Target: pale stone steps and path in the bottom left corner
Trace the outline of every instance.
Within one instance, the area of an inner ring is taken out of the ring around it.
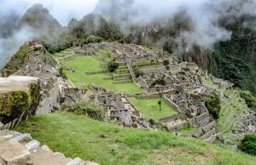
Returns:
[[[0,122],[1,123],[1,122]],[[76,157],[67,158],[53,152],[47,145],[32,139],[30,134],[20,134],[0,129],[0,165],[98,165]]]

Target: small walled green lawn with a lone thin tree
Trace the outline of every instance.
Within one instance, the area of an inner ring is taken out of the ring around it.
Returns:
[[[167,105],[164,100],[162,100],[161,110],[158,105],[160,99],[136,99],[131,97],[130,100],[147,120],[159,121],[160,118],[177,115],[177,111]]]

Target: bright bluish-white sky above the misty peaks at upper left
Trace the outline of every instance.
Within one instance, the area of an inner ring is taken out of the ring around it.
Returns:
[[[34,3],[41,3],[61,25],[67,26],[70,19],[81,19],[92,12],[97,2],[98,0],[0,0],[0,18],[11,12],[24,14]]]

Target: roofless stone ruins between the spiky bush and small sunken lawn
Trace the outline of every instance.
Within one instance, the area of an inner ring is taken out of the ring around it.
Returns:
[[[97,88],[92,84],[90,88],[94,94],[94,102],[105,108],[108,122],[115,122],[124,127],[148,129],[148,123],[127,96]]]

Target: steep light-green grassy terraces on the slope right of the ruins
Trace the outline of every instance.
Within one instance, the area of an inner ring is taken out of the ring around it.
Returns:
[[[243,110],[247,109],[247,105],[241,99],[240,94],[234,90],[225,90],[218,88],[218,85],[212,81],[202,78],[204,85],[208,88],[216,89],[222,92],[225,96],[221,97],[221,110],[217,121],[218,128],[222,133],[227,133],[232,128],[236,117],[240,117]]]

